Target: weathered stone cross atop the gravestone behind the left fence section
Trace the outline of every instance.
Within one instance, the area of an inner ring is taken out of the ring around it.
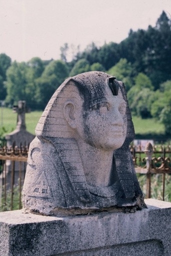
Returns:
[[[18,100],[18,105],[13,106],[13,112],[17,113],[16,129],[26,129],[25,126],[25,113],[29,113],[30,109],[26,107],[25,100]]]

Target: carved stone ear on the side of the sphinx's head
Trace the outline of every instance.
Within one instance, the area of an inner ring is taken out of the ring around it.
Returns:
[[[76,107],[73,101],[69,100],[65,102],[63,106],[63,114],[65,117],[65,120],[67,121],[68,125],[71,128],[76,128],[75,110],[76,110]]]

